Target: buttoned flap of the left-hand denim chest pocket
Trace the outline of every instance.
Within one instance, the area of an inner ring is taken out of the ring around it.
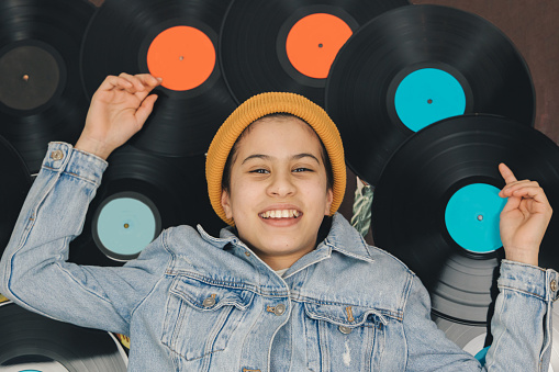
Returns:
[[[183,275],[175,279],[170,292],[200,311],[214,311],[223,306],[235,306],[244,311],[255,295],[250,291],[208,284]]]

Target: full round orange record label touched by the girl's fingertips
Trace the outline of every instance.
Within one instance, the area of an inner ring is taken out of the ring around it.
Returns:
[[[208,35],[191,26],[175,26],[158,34],[147,50],[149,74],[171,90],[201,86],[215,67],[215,48]]]

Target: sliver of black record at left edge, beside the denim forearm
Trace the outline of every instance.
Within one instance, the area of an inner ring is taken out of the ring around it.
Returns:
[[[0,182],[0,257],[12,235],[25,196],[31,188],[31,176],[23,158],[8,140],[0,136],[0,158],[3,162]]]

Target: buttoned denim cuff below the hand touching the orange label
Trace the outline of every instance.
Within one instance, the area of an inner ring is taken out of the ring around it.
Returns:
[[[97,185],[109,164],[98,156],[75,149],[70,144],[52,142],[43,160],[43,168],[65,172]]]

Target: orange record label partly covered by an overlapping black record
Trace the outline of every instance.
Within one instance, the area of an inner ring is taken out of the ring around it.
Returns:
[[[335,15],[306,15],[288,34],[286,50],[289,61],[305,76],[326,79],[337,53],[351,34],[347,23]]]

